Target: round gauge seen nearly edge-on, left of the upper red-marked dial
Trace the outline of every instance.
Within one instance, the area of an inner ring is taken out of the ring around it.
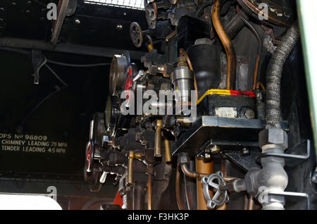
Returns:
[[[111,95],[120,93],[124,88],[125,74],[130,64],[130,56],[128,54],[116,55],[113,57],[109,76],[109,89]]]

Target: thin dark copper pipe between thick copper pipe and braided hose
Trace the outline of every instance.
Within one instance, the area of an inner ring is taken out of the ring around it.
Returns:
[[[247,25],[247,27],[249,27],[251,32],[254,33],[257,41],[259,42],[259,50],[258,50],[258,54],[256,56],[256,64],[254,67],[253,85],[252,85],[252,89],[255,90],[256,89],[256,82],[258,81],[258,76],[259,76],[259,66],[260,66],[261,51],[262,51],[262,41],[261,41],[261,37],[259,35],[259,32],[257,32],[256,29],[251,25],[251,23],[249,23],[247,21],[247,19],[244,18],[242,12],[240,11],[239,6],[237,6],[237,14],[240,16],[241,20],[245,23],[245,25]]]

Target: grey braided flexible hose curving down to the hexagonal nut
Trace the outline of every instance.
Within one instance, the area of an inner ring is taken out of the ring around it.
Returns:
[[[268,64],[266,75],[266,128],[280,128],[280,82],[287,57],[299,39],[298,23],[294,23],[283,37],[281,44]]]

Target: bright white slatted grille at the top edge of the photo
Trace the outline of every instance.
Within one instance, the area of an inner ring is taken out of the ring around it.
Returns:
[[[143,0],[85,0],[85,3],[144,10]]]

